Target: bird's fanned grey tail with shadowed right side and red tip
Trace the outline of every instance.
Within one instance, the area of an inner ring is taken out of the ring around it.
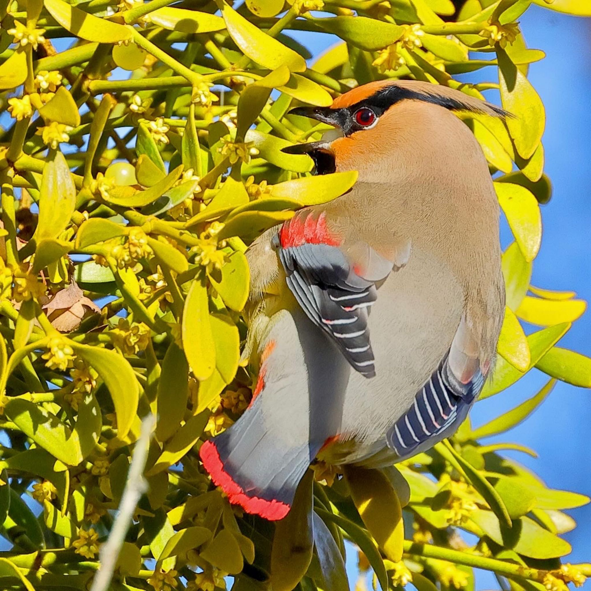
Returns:
[[[251,405],[232,427],[206,441],[200,456],[230,502],[276,520],[287,515],[324,442],[338,433],[346,381],[336,370],[346,374],[348,366],[299,311],[275,314],[258,342]]]

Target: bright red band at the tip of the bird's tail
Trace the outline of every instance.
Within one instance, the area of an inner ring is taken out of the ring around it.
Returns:
[[[247,513],[259,515],[269,521],[283,519],[290,511],[290,505],[282,501],[276,499],[267,501],[267,499],[261,499],[258,496],[248,496],[224,469],[222,459],[213,441],[206,441],[201,446],[199,456],[203,466],[212,477],[213,483],[222,487],[223,492],[228,495],[230,503],[240,505]]]

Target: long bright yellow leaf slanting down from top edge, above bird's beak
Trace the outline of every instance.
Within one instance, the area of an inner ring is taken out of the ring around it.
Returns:
[[[306,60],[276,39],[263,33],[228,4],[222,5],[222,17],[232,40],[245,56],[269,70],[287,66],[291,72],[304,72]]]

